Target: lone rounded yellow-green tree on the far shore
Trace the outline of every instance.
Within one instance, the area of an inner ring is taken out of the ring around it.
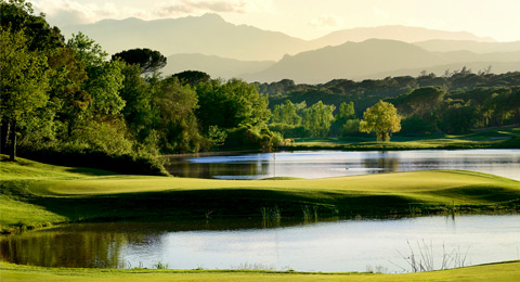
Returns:
[[[367,108],[360,123],[361,132],[376,132],[378,141],[390,141],[392,132],[401,130],[401,116],[390,103],[379,101]]]

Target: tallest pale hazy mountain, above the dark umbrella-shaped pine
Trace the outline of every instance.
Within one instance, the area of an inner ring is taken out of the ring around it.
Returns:
[[[66,36],[82,31],[108,53],[150,48],[164,55],[200,53],[244,61],[277,61],[316,48],[314,43],[277,31],[234,25],[217,14],[142,21],[104,20],[62,28]]]

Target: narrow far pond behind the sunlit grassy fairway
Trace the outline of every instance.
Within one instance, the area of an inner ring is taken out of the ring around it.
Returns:
[[[173,176],[217,179],[325,178],[422,169],[466,169],[520,180],[520,150],[304,151],[170,157]]]

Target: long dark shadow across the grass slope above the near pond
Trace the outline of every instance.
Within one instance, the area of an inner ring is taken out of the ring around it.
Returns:
[[[35,197],[31,204],[72,221],[179,220],[252,218],[262,208],[278,207],[282,218],[301,218],[302,208],[316,208],[320,217],[388,217],[406,214],[410,198],[396,195],[308,195],[271,190],[221,189],[110,194],[81,197]]]

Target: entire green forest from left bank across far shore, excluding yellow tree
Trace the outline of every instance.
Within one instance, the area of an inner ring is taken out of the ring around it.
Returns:
[[[520,123],[520,73],[473,73],[296,85],[248,84],[198,70],[162,76],[150,49],[112,56],[68,40],[23,0],[1,0],[1,151],[55,164],[165,174],[158,156],[262,149],[296,137],[367,136],[363,113],[398,110],[398,134],[466,133]]]

